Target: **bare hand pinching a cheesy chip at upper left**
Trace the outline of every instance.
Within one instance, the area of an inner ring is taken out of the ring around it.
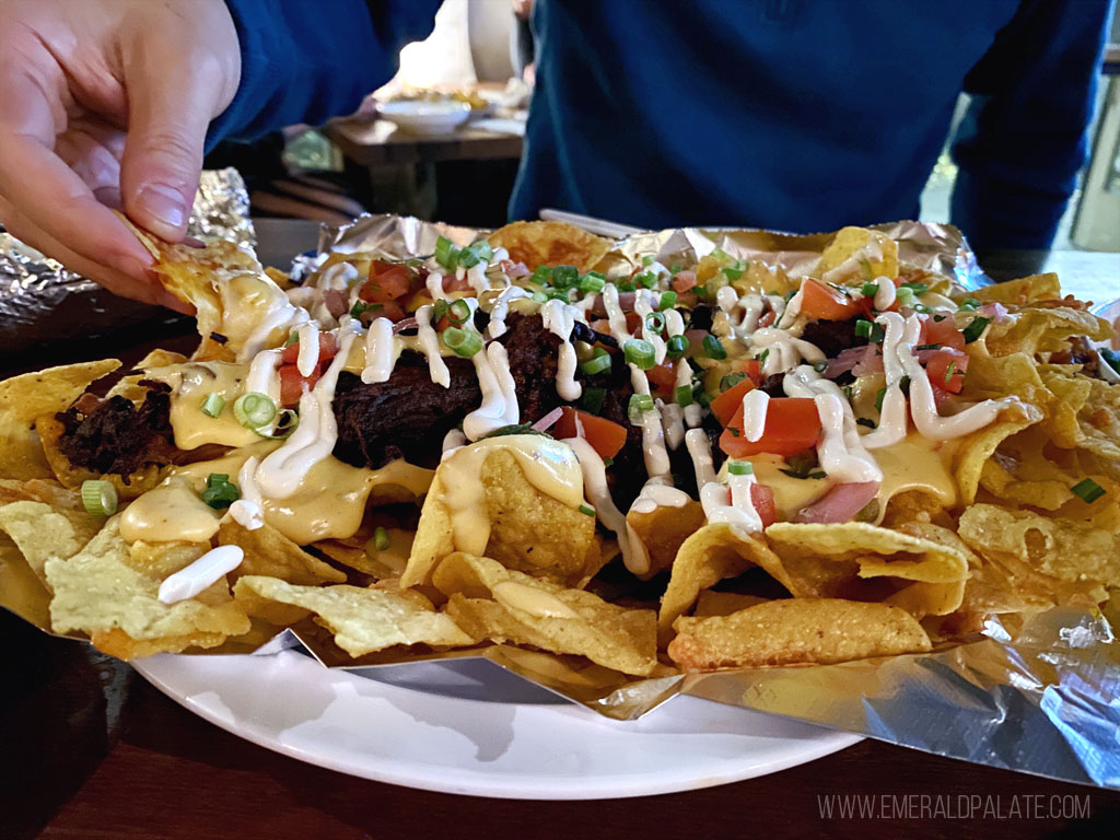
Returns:
[[[178,242],[241,49],[223,0],[0,0],[0,222],[118,295],[185,310],[118,218]]]

